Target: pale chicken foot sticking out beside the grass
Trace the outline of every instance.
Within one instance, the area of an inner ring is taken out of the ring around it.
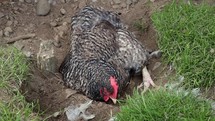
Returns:
[[[152,85],[153,87],[157,87],[157,85],[152,80],[146,66],[142,70],[142,76],[143,82],[139,86],[137,86],[137,89],[140,89],[144,86],[143,93],[145,93],[149,89],[150,85]]]

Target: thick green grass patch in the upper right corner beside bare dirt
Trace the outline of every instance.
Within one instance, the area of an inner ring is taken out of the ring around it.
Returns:
[[[175,2],[152,15],[167,63],[190,87],[215,84],[215,6]]]

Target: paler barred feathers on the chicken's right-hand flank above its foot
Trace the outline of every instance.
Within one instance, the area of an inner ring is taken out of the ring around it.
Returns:
[[[150,59],[149,51],[127,30],[118,29],[116,41],[119,45],[117,55],[113,58],[132,69],[135,74],[140,74],[142,68]]]

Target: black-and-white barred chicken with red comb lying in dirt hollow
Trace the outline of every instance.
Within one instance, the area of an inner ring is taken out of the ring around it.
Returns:
[[[145,65],[150,53],[126,30],[118,14],[91,6],[72,17],[71,49],[60,66],[65,84],[93,100],[116,101],[133,73],[146,90],[155,86]]]

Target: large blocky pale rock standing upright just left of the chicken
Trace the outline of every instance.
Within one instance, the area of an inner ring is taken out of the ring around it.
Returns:
[[[37,66],[46,74],[57,72],[57,59],[54,56],[52,40],[42,40],[40,43],[39,52],[37,53]]]

